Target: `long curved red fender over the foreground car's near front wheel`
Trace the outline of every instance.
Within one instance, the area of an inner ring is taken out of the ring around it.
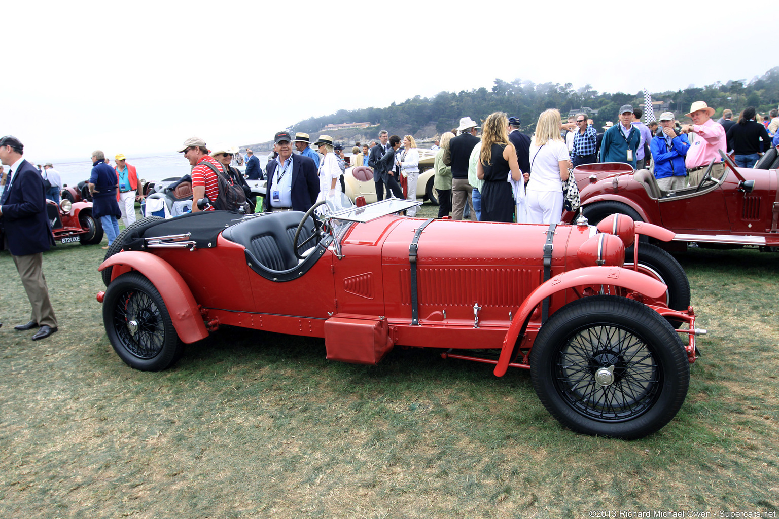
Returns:
[[[527,317],[530,316],[535,307],[538,307],[541,301],[548,296],[552,296],[553,293],[573,286],[583,285],[621,286],[654,298],[662,296],[668,289],[663,283],[650,278],[648,275],[622,267],[584,267],[555,275],[555,277],[538,286],[537,289],[530,293],[530,296],[527,296],[520,309],[516,311],[516,315],[509,326],[509,331],[506,332],[506,338],[503,339],[500,358],[493,372],[495,376],[502,377],[506,374],[516,339],[520,336],[520,331],[525,321],[527,321]]]

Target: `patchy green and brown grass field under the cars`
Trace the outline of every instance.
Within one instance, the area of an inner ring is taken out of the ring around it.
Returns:
[[[777,254],[677,255],[703,357],[675,419],[622,441],[563,429],[526,371],[427,350],[357,366],[222,328],[170,370],[132,370],[95,300],[104,252],[44,255],[60,331],[40,342],[12,329],[30,309],[0,253],[0,518],[776,517]]]

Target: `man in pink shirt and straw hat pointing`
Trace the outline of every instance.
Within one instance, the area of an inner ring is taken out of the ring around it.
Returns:
[[[700,184],[707,167],[714,160],[711,168],[711,176],[721,178],[724,174],[724,164],[719,150],[728,152],[728,143],[725,139],[725,129],[721,124],[711,120],[714,108],[710,108],[703,101],[696,101],[689,109],[687,117],[693,119],[693,124],[682,124],[682,133],[686,133],[690,141],[689,150],[685,158],[689,185]]]

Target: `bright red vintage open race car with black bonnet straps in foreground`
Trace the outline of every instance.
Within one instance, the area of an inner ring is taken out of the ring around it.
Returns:
[[[347,363],[439,349],[499,377],[530,370],[546,409],[581,433],[643,437],[675,416],[704,331],[692,307],[668,307],[633,247],[673,233],[621,215],[598,228],[398,216],[414,204],[337,194],[305,214],[139,220],[100,265],[111,345],[139,370],[225,324],[321,337]]]

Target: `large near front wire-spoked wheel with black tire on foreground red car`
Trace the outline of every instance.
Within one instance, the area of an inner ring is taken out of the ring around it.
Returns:
[[[563,426],[633,440],[660,430],[679,411],[689,363],[676,331],[649,307],[591,296],[544,324],[530,350],[530,377]]]

